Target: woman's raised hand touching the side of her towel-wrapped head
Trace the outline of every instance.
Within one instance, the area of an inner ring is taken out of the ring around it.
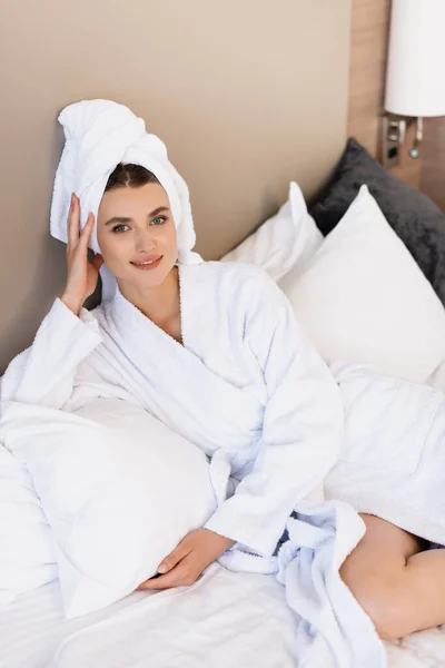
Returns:
[[[93,214],[89,214],[83,229],[80,232],[80,203],[77,195],[71,195],[71,206],[68,214],[67,245],[67,285],[60,297],[71,311],[79,314],[83,302],[92,295],[103,264],[101,255],[97,254],[92,262],[88,259],[88,242],[95,225]]]

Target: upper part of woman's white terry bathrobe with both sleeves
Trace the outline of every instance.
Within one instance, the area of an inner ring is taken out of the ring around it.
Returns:
[[[263,272],[179,272],[184,346],[120,292],[80,320],[56,299],[9,366],[1,400],[66,411],[98,396],[140,404],[214,458],[219,499],[229,474],[241,481],[208,528],[271,556],[296,502],[338,458],[340,393]]]

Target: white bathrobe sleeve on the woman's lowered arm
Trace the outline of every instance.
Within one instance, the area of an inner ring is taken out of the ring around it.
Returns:
[[[266,277],[248,293],[245,343],[268,394],[261,446],[251,471],[206,528],[270,557],[296,503],[320,488],[336,462],[344,411],[334,376],[284,293]]]

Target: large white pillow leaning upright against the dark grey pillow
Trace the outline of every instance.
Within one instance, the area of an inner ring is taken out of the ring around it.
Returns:
[[[424,382],[445,357],[445,310],[366,186],[280,287],[328,361]]]

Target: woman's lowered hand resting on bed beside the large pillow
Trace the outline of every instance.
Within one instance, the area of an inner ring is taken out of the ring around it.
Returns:
[[[169,589],[194,584],[202,571],[235,544],[234,540],[208,529],[190,531],[158,567],[160,577],[150,578],[138,589]]]

